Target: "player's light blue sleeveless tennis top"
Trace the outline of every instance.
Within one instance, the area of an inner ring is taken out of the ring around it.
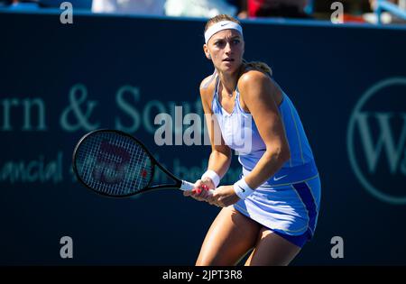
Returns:
[[[258,132],[251,114],[246,113],[240,105],[240,93],[235,89],[235,104],[231,114],[220,105],[218,100],[217,76],[216,87],[211,103],[226,145],[238,153],[238,160],[243,166],[243,176],[254,169],[258,160],[266,151],[265,143]],[[286,161],[278,172],[265,184],[283,185],[311,179],[318,175],[308,138],[300,121],[300,116],[289,96],[282,91],[283,99],[278,106],[285,133],[291,150],[291,159]]]

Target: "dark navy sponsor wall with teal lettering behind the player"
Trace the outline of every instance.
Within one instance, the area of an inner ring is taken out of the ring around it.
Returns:
[[[213,71],[204,24],[86,13],[62,24],[59,12],[0,12],[0,264],[194,264],[217,207],[177,190],[99,197],[78,184],[71,157],[83,134],[115,128],[176,176],[198,179],[210,147],[201,133],[187,138],[204,124],[198,86]],[[244,27],[245,59],[272,67],[321,177],[315,237],[292,264],[405,264],[406,29]],[[172,118],[171,145],[156,142],[159,114]],[[224,185],[241,172],[236,158]]]

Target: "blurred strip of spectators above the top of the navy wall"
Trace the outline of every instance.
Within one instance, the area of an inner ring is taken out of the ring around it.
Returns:
[[[0,0],[10,10],[59,8],[63,0]],[[212,17],[269,17],[329,20],[332,5],[344,8],[345,23],[405,23],[405,0],[72,0],[76,9],[93,13]],[[381,15],[381,17],[379,17]]]

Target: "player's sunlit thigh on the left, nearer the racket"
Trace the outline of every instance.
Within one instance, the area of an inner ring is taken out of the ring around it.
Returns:
[[[233,206],[223,208],[208,230],[196,265],[235,265],[254,247],[261,227]]]

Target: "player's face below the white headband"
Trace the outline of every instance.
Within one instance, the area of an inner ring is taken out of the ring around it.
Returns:
[[[243,61],[244,39],[240,32],[223,30],[210,38],[205,51],[217,69],[233,73]]]

